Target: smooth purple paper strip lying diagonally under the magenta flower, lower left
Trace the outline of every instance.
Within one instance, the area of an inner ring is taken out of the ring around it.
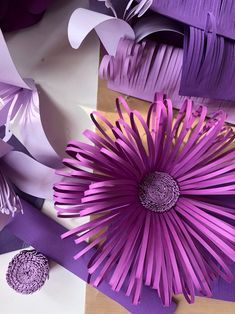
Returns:
[[[75,245],[73,242],[75,237],[61,241],[61,234],[67,231],[63,226],[45,216],[24,200],[21,200],[21,202],[24,215],[17,215],[12,219],[7,229],[23,241],[31,244],[37,251],[42,252],[87,282],[89,280],[87,264],[95,249],[79,261],[75,261],[73,256],[77,249],[84,249],[87,243],[82,242]],[[98,290],[120,303],[133,314],[171,314],[175,310],[174,303],[169,308],[163,307],[156,293],[147,287],[144,287],[142,302],[138,305],[133,305],[131,300],[125,296],[124,291],[121,290],[119,293],[112,291],[106,280],[100,284]]]

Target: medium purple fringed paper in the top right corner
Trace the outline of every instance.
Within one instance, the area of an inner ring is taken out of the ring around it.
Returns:
[[[151,9],[202,30],[206,29],[210,13],[215,18],[217,34],[235,39],[233,0],[153,0]]]

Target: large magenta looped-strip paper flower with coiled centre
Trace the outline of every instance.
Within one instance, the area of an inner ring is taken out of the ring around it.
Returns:
[[[62,238],[90,239],[75,259],[99,244],[88,265],[92,283],[109,275],[112,289],[126,289],[134,303],[144,284],[167,306],[173,294],[188,302],[211,296],[213,279],[233,279],[235,261],[235,211],[226,202],[235,194],[235,134],[226,114],[207,121],[205,106],[193,111],[185,100],[174,119],[166,99],[145,119],[121,97],[117,112],[115,124],[91,115],[99,134],[84,134],[92,145],[67,146],[71,171],[62,175],[73,180],[55,185],[58,215],[98,216]]]

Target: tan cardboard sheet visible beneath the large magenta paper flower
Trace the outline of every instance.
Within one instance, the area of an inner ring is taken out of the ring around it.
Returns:
[[[99,80],[97,110],[102,112],[110,121],[117,117],[115,99],[120,93],[113,92],[106,87],[106,82]],[[128,105],[146,116],[149,103],[133,97],[126,97]],[[184,297],[174,298],[177,303],[175,314],[234,314],[235,303],[197,297],[195,304],[188,304]],[[121,305],[111,300],[95,288],[87,285],[85,314],[127,314]],[[147,313],[143,313],[147,314]],[[161,314],[161,313],[156,313]]]

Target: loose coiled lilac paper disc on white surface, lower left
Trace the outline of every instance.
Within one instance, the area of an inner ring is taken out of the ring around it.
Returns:
[[[48,279],[47,258],[36,250],[21,251],[9,263],[6,280],[8,285],[22,294],[39,290]]]

